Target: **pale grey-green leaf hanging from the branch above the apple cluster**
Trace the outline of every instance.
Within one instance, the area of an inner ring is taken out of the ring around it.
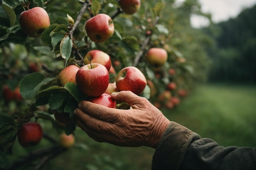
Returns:
[[[66,63],[67,63],[67,60],[70,58],[72,46],[73,46],[73,42],[69,36],[65,36],[61,40],[61,44],[60,44],[61,57],[66,60]]]

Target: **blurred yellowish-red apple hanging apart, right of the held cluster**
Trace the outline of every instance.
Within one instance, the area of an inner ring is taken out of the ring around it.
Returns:
[[[146,53],[145,59],[150,66],[160,67],[167,61],[168,54],[165,49],[151,48]]]

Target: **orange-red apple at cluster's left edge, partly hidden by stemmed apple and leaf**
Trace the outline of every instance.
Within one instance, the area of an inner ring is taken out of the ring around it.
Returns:
[[[76,73],[79,70],[79,66],[69,65],[58,74],[58,81],[62,86],[65,86],[67,82],[76,84]]]

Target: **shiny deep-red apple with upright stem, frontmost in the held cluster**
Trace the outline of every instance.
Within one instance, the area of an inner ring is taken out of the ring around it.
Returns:
[[[76,73],[79,90],[88,97],[98,97],[108,88],[109,74],[105,66],[92,63],[82,66]]]

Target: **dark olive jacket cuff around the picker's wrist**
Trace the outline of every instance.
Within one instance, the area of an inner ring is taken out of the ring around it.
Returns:
[[[178,170],[194,136],[188,128],[171,121],[155,150],[152,170]]]

